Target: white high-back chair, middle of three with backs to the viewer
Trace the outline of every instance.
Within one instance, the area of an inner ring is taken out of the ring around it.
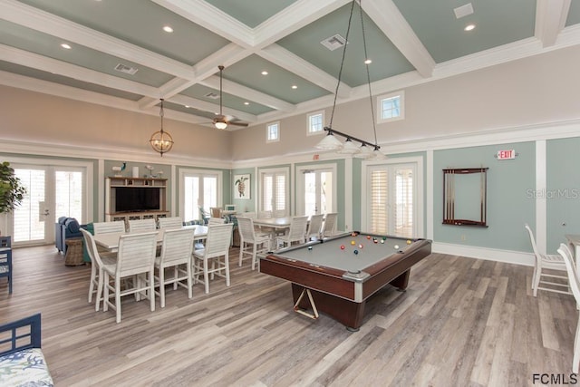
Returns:
[[[193,276],[191,275],[191,255],[193,253],[193,228],[173,228],[165,230],[161,254],[155,258],[157,275],[155,287],[159,287],[156,295],[160,297],[160,305],[165,307],[165,285],[173,284],[173,290],[178,285],[188,289],[188,297],[193,296]],[[173,272],[166,276],[166,269]],[[171,270],[172,269],[172,270]]]

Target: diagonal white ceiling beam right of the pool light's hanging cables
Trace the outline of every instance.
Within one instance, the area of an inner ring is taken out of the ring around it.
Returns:
[[[435,61],[392,0],[366,0],[362,3],[362,9],[413,67],[422,76],[429,78],[435,68]]]

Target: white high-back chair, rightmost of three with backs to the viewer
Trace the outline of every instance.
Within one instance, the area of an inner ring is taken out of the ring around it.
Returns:
[[[214,276],[226,278],[229,286],[229,245],[233,227],[233,223],[208,226],[205,246],[193,252],[193,276],[196,282],[204,285],[206,294],[209,293],[209,275],[211,279]]]

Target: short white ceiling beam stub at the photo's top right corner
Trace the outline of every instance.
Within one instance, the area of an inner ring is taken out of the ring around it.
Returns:
[[[571,0],[537,0],[534,35],[543,47],[556,44],[558,35],[565,27],[570,4]]]

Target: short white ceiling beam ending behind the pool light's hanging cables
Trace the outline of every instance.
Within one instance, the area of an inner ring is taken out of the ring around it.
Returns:
[[[322,87],[324,90],[333,93],[336,92],[336,83],[338,82],[336,78],[320,70],[314,64],[304,61],[298,55],[289,52],[278,44],[270,44],[257,54],[266,59],[266,61],[275,63],[277,66],[291,73],[295,73],[306,81]],[[341,82],[341,87],[338,89],[339,97],[347,98],[351,92],[352,88],[344,82]]]

